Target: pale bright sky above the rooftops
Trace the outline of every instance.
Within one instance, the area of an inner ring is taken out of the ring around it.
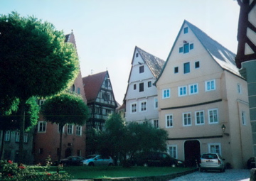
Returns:
[[[82,77],[108,70],[122,104],[135,46],[166,61],[183,21],[237,53],[235,0],[0,0],[0,14],[17,11],[73,31]]]

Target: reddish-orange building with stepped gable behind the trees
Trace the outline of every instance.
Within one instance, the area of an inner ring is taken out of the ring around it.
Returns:
[[[65,36],[66,43],[75,45],[75,35],[73,32]],[[75,45],[76,47],[76,45]],[[80,94],[85,104],[85,91],[82,84],[82,75],[79,72],[73,85],[70,87],[70,92]],[[44,100],[38,100],[38,104],[43,104]],[[62,158],[67,158],[71,155],[85,156],[85,129],[86,126],[78,126],[67,124],[63,128],[63,148]],[[58,124],[51,124],[43,119],[41,115],[34,133],[34,163],[46,163],[46,158],[50,155],[52,161],[58,160],[58,152],[60,145],[60,129]]]

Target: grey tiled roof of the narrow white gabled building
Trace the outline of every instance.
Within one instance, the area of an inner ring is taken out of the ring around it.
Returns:
[[[159,57],[147,53],[146,51],[138,48],[137,46],[135,47],[134,53],[136,52],[136,50],[139,52],[139,55],[141,55],[142,60],[149,67],[154,77],[157,78],[160,75],[161,69],[164,67],[164,60],[161,60]]]

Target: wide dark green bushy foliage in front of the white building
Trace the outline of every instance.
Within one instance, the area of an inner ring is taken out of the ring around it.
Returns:
[[[110,115],[105,123],[104,131],[95,131],[92,134],[92,143],[97,152],[111,155],[117,160],[122,156],[124,165],[126,158],[132,157],[140,151],[166,151],[168,133],[161,128],[154,128],[151,124],[129,123],[125,125],[119,114]]]

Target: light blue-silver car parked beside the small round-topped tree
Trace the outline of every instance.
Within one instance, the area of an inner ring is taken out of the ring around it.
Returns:
[[[114,160],[110,156],[89,155],[81,163],[88,166],[113,166]]]

